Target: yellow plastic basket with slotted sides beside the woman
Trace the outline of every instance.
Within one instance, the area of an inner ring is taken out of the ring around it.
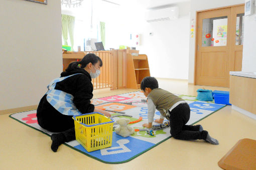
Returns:
[[[114,120],[99,112],[73,116],[76,140],[88,151],[112,145]]]

